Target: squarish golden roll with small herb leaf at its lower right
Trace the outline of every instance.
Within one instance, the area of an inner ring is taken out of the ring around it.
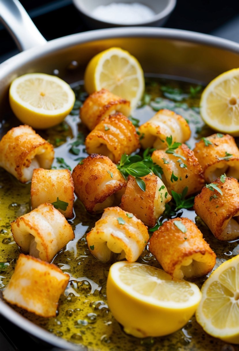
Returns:
[[[52,204],[57,200],[67,202],[66,211],[58,210],[66,217],[73,217],[74,184],[69,170],[44,170],[36,168],[33,171],[31,185],[32,209],[40,204]]]

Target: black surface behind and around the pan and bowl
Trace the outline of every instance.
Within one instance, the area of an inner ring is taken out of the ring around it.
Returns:
[[[20,2],[47,40],[91,29],[82,21],[71,0]],[[239,0],[178,0],[164,27],[209,33],[239,42]],[[0,62],[16,53],[18,49],[13,39],[0,24]],[[42,346],[27,333],[0,317],[0,351],[48,349],[53,350],[51,347]],[[235,346],[228,350],[238,349]]]

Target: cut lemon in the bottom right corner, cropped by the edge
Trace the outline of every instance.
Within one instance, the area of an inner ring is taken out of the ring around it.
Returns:
[[[202,286],[197,322],[210,335],[239,343],[239,255],[221,264]]]

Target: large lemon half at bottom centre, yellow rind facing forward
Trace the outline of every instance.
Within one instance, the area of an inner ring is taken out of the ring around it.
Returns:
[[[124,331],[136,337],[163,336],[183,327],[201,299],[196,284],[173,279],[140,263],[114,263],[107,279],[107,299]]]

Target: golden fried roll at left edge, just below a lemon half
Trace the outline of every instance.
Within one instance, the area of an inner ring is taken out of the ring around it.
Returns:
[[[53,159],[52,144],[28,125],[10,129],[0,141],[0,166],[22,183],[32,179],[34,168],[49,169]]]

